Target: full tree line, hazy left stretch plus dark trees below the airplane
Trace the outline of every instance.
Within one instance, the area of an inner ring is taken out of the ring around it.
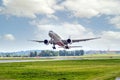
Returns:
[[[47,57],[47,56],[81,56],[84,55],[83,50],[74,51],[52,51],[52,50],[34,50],[34,51],[21,51],[11,53],[0,53],[0,57]]]

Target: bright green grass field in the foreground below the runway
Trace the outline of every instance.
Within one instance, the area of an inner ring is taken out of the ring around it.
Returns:
[[[115,80],[120,59],[0,63],[0,80]]]

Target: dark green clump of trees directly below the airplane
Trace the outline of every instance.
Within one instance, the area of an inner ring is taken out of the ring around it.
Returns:
[[[41,52],[30,52],[29,57],[46,57],[46,56],[82,56],[84,55],[84,50],[75,50],[75,51],[50,51],[50,50],[43,50]]]

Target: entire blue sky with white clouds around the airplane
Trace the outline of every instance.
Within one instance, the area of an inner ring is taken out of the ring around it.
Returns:
[[[119,50],[119,4],[119,0],[1,0],[0,52],[52,49],[28,41],[49,40],[49,30],[64,39],[102,37],[73,44],[85,50]]]

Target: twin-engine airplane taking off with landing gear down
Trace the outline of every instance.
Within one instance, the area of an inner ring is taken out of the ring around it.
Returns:
[[[88,38],[88,39],[67,39],[67,40],[63,40],[61,39],[61,37],[56,34],[53,31],[49,31],[48,33],[49,37],[51,38],[50,40],[30,40],[30,41],[34,41],[34,42],[38,42],[38,43],[44,43],[45,45],[48,44],[53,44],[53,49],[56,49],[55,45],[60,46],[60,48],[64,48],[64,49],[70,49],[70,48],[74,48],[74,47],[81,47],[81,46],[69,46],[69,44],[75,43],[75,42],[81,42],[81,41],[88,41],[88,40],[93,40],[93,39],[99,39],[100,37],[96,37],[96,38]]]

